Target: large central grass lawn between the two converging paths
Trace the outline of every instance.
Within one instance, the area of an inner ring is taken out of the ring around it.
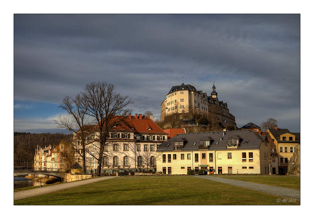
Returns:
[[[14,205],[300,205],[197,177],[119,177],[14,201]]]

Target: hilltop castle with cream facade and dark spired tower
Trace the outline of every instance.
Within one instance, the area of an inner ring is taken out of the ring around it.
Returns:
[[[225,127],[236,126],[236,119],[229,112],[227,103],[219,101],[215,85],[210,96],[189,84],[173,86],[160,106],[161,121],[174,112],[189,113],[192,110],[200,114],[213,113]]]

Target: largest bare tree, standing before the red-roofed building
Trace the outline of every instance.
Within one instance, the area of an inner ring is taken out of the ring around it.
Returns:
[[[115,88],[114,84],[106,81],[91,82],[80,93],[86,114],[92,117],[96,124],[95,135],[99,143],[95,144],[97,146],[95,152],[98,156],[95,156],[95,153],[93,156],[97,160],[97,175],[100,174],[105,146],[108,144],[107,139],[111,129],[122,124],[124,116],[132,112],[127,105],[134,103],[132,98],[114,92]]]

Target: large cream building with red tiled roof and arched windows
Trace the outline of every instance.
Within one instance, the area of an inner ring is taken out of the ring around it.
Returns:
[[[125,116],[123,122],[109,133],[101,173],[155,171],[156,149],[167,140],[167,133],[141,114]],[[94,131],[85,138],[86,173],[95,173],[97,169],[100,144],[97,136],[98,132]],[[73,138],[77,139],[75,134]],[[77,162],[82,166],[83,162],[79,159]]]

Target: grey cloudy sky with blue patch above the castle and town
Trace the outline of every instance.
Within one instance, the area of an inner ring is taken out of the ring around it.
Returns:
[[[237,126],[300,132],[300,14],[14,14],[14,132],[61,132],[65,95],[116,85],[135,113],[215,82]]]

